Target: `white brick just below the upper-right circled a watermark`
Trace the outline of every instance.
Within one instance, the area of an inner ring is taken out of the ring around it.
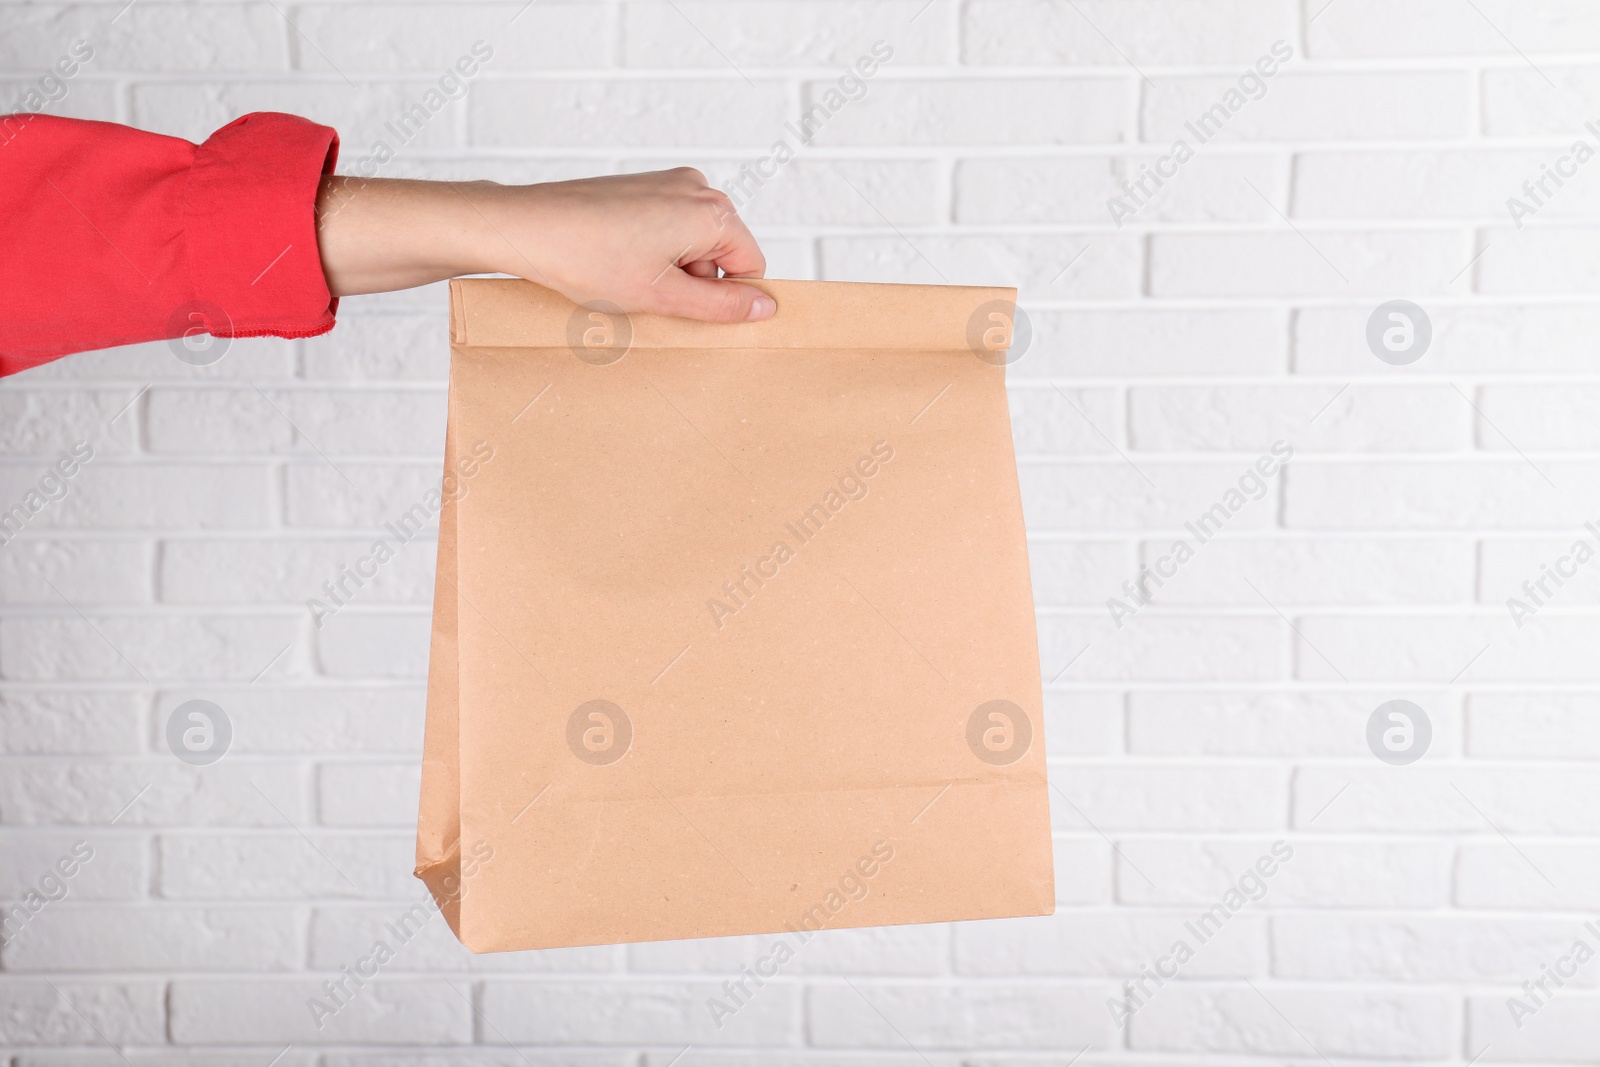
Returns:
[[[1128,438],[1147,451],[1456,451],[1467,406],[1448,386],[1149,386],[1128,392]]]

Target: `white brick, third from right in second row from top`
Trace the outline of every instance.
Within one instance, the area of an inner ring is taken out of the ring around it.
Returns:
[[[816,144],[1114,144],[1133,139],[1134,78],[886,78],[840,107]],[[802,114],[830,80],[808,82]],[[794,117],[798,125],[798,115]]]

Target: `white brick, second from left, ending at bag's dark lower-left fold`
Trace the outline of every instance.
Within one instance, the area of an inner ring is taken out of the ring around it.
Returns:
[[[414,899],[414,846],[410,833],[307,830],[302,838],[288,829],[248,837],[162,837],[160,896],[173,901]]]

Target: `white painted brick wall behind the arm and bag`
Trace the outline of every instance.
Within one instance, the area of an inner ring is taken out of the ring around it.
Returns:
[[[723,1030],[704,1000],[762,939],[475,958],[435,918],[318,1030],[306,998],[422,897],[432,544],[320,632],[302,605],[438,477],[435,286],[203,370],[157,344],[0,384],[0,501],[94,446],[0,547],[0,902],[93,849],[0,949],[0,1064],[1600,1056],[1600,960],[1507,1009],[1600,949],[1600,563],[1504,608],[1600,518],[1600,163],[1506,210],[1594,141],[1590,0],[123,3],[0,0],[0,104],[85,38],[59,114],[202,138],[299,110],[354,165],[482,38],[386,173],[722,181],[891,43],[746,216],[778,277],[1022,288],[1059,910],[824,934]],[[1275,40],[1261,99],[1115,226]],[[1434,326],[1410,366],[1365,341],[1394,298]],[[1117,627],[1106,598],[1275,440],[1286,472]],[[1395,697],[1432,721],[1413,766],[1368,750]],[[214,766],[168,752],[189,699],[234,723]],[[1107,998],[1274,841],[1261,899],[1118,1027]]]

